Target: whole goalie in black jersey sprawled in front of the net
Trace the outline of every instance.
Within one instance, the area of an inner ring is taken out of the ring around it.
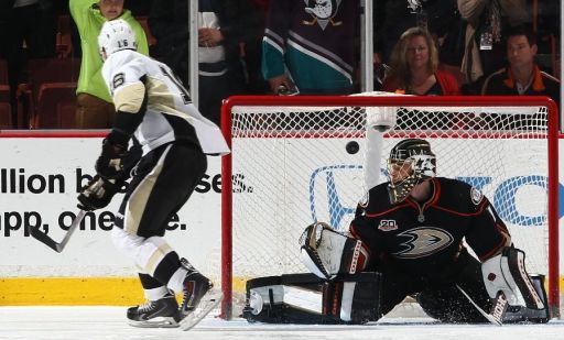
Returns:
[[[443,322],[550,319],[543,276],[527,273],[524,252],[487,197],[436,176],[427,141],[399,142],[388,174],[359,202],[346,233],[323,222],[305,229],[302,260],[317,281],[283,275],[249,282],[248,319],[362,323],[408,296]],[[286,298],[289,293],[295,295]],[[307,298],[317,309],[296,306]]]

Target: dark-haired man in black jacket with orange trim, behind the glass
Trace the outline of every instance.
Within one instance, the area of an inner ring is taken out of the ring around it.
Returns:
[[[536,51],[531,30],[525,26],[511,29],[507,36],[509,66],[486,78],[481,95],[547,96],[560,103],[560,81],[539,68],[534,61]]]

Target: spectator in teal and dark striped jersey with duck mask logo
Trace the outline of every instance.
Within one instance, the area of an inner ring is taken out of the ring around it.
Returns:
[[[262,74],[271,90],[349,95],[354,90],[360,1],[271,1]]]

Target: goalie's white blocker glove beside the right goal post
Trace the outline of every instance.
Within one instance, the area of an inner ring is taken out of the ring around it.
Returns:
[[[525,271],[523,251],[514,248],[503,249],[499,255],[481,264],[481,273],[491,298],[496,299],[498,293],[502,292],[511,306],[545,308]]]

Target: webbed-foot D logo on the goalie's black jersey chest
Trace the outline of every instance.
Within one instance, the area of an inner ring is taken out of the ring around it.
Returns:
[[[417,259],[435,254],[451,245],[453,235],[446,230],[434,227],[421,227],[404,231],[398,238],[409,238],[400,243],[403,250],[392,253],[398,259]]]

